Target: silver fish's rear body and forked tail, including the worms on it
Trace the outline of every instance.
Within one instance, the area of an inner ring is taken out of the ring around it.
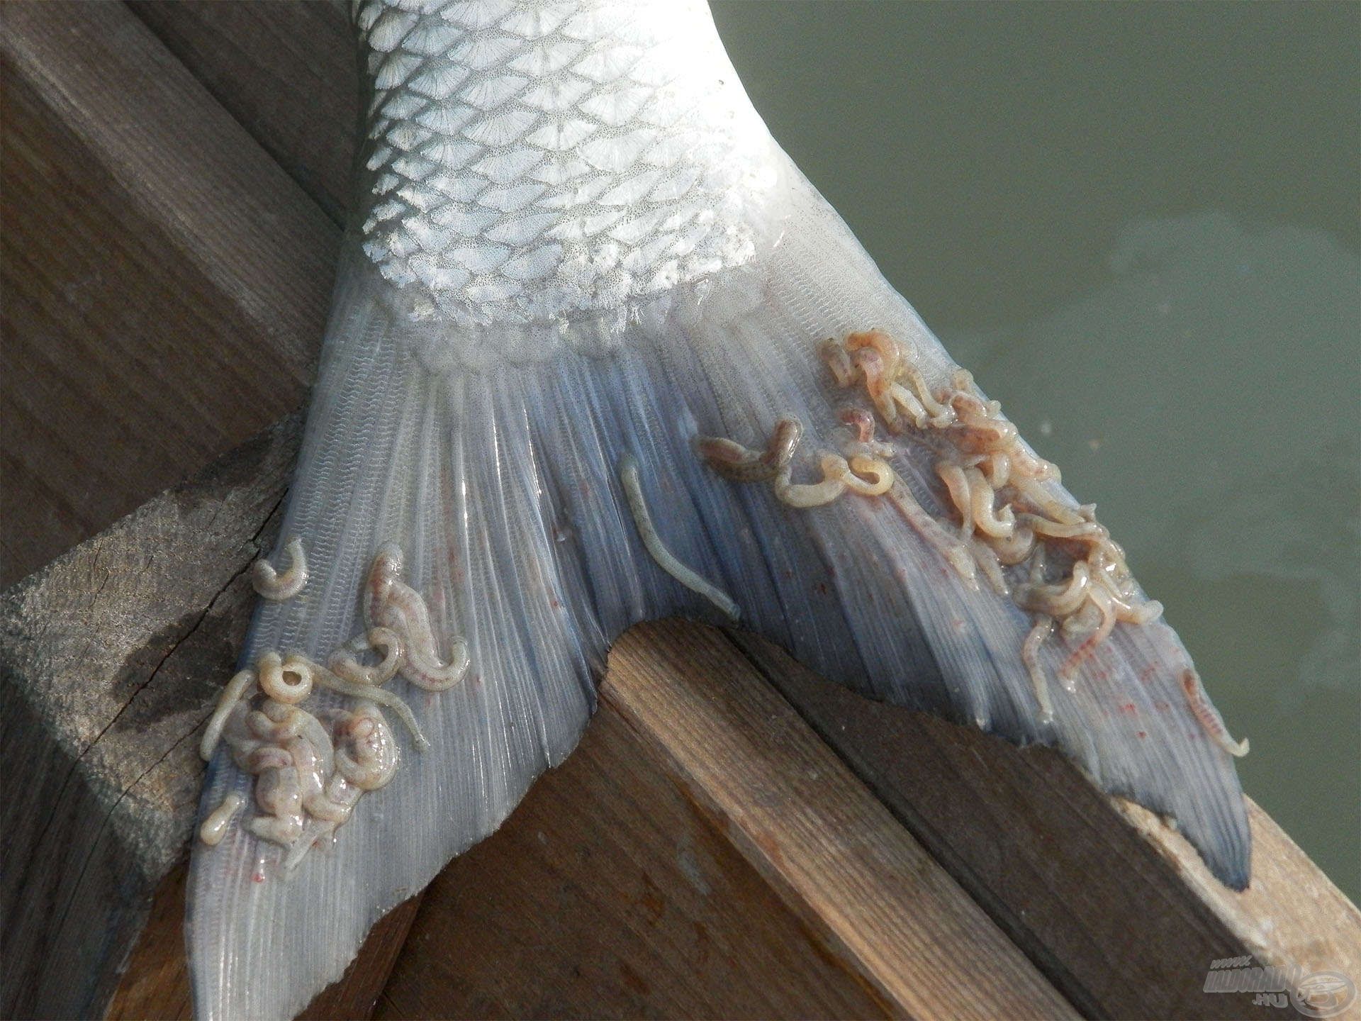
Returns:
[[[280,549],[203,735],[203,1018],[293,1017],[685,615],[1019,745],[1225,885],[1229,736],[1124,550],[770,136],[693,0],[357,0]],[[1057,370],[1057,369],[1056,369]]]

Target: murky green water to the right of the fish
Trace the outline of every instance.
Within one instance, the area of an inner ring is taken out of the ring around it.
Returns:
[[[715,3],[772,132],[1130,551],[1361,900],[1361,5]]]

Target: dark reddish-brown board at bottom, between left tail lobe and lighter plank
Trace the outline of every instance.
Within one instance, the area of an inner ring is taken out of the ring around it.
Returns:
[[[430,885],[377,1017],[891,1013],[606,698],[572,757]]]

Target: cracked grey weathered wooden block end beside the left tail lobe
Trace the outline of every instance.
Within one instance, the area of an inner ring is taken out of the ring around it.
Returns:
[[[24,781],[0,805],[0,1014],[98,1013],[189,839],[191,739],[230,675],[298,421],[0,595],[0,707]]]

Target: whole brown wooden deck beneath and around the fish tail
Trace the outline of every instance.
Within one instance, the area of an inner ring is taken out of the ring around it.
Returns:
[[[192,736],[295,452],[351,42],[320,3],[0,20],[0,709],[24,771],[0,1016],[188,1017]],[[1251,994],[1202,991],[1211,961],[1361,980],[1361,915],[1252,828],[1234,894],[1052,753],[649,625],[578,751],[310,1016],[1243,1017]]]

